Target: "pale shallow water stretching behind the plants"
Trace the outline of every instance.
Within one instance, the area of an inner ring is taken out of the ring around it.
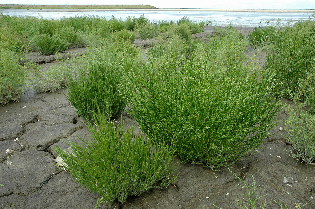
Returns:
[[[79,11],[70,9],[1,9],[4,15],[31,16],[44,19],[60,19],[63,17],[75,17],[81,15],[100,16],[106,19],[116,18],[126,19],[127,16],[139,17],[144,14],[151,22],[159,22],[161,20],[175,21],[186,16],[195,22],[212,21],[212,25],[227,26],[247,26],[254,27],[256,25],[275,25],[278,18],[281,19],[280,25],[286,25],[289,22],[297,22],[299,20],[308,20],[312,13],[298,12],[231,12],[231,11],[196,11],[196,10],[98,10],[98,11]]]

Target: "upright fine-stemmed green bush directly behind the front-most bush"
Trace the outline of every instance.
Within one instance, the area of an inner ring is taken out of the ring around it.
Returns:
[[[114,47],[106,45],[89,58],[87,75],[82,71],[77,81],[68,78],[68,101],[83,118],[92,119],[90,110],[95,111],[95,100],[102,111],[118,116],[126,107],[122,92],[126,87],[124,67],[131,62],[127,55],[111,51]]]

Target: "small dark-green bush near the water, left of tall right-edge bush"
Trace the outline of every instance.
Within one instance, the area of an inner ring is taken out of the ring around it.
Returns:
[[[267,25],[266,27],[256,26],[252,32],[248,34],[248,40],[253,48],[261,48],[262,46],[272,44],[276,39],[276,27]]]

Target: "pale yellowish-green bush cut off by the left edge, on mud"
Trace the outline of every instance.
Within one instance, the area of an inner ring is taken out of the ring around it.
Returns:
[[[0,105],[19,101],[24,84],[24,71],[14,53],[0,47]]]

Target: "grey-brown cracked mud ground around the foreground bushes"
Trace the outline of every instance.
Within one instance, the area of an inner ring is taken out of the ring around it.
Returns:
[[[262,65],[265,52],[258,54]],[[72,209],[94,208],[100,195],[84,189],[73,178],[56,166],[55,144],[61,149],[68,145],[61,140],[68,137],[81,143],[90,137],[89,130],[66,99],[66,89],[55,93],[34,93],[26,88],[20,103],[0,106],[0,208],[10,209]],[[283,99],[287,104],[290,100]],[[265,208],[280,208],[275,201],[283,201],[288,208],[295,203],[307,203],[304,208],[315,208],[315,166],[306,166],[292,159],[286,150],[284,121],[287,114],[281,111],[280,123],[266,138],[261,149],[245,160],[230,166],[244,178],[246,184],[256,181],[256,192],[266,195]],[[124,113],[121,118],[131,127],[132,120]],[[134,127],[137,130],[137,127]],[[17,139],[18,138],[18,139]],[[8,150],[8,151],[7,151]],[[281,157],[281,158],[280,158]],[[12,163],[11,163],[12,162]],[[11,163],[11,164],[10,164]],[[140,196],[131,196],[122,205],[100,204],[98,208],[151,209],[151,208],[239,208],[237,201],[245,198],[242,188],[227,167],[213,171],[202,165],[180,164],[175,184],[164,189],[151,189]],[[284,184],[290,177],[293,184]],[[258,206],[259,207],[259,206]]]

